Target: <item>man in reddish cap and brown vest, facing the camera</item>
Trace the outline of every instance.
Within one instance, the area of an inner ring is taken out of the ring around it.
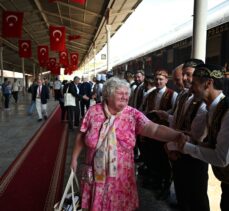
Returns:
[[[175,104],[177,93],[166,87],[168,82],[168,71],[166,69],[158,69],[155,73],[155,86],[153,90],[146,98],[146,108],[144,113],[152,121],[159,124],[168,125],[167,121],[160,121],[155,115],[154,110],[171,110]],[[168,156],[164,150],[164,144],[158,141],[150,141],[147,138],[143,138],[142,145],[144,147],[143,157],[144,162],[150,170],[150,178],[145,178],[143,185],[147,180],[151,182],[152,188],[156,189],[156,198],[164,200],[169,196],[170,184],[171,184],[171,166],[168,160]],[[146,186],[146,185],[145,185]]]

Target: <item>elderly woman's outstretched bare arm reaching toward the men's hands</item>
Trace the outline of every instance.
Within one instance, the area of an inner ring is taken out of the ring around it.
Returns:
[[[163,125],[158,125],[154,122],[148,122],[143,127],[143,130],[140,134],[142,136],[157,139],[163,142],[176,141],[177,139],[186,139],[186,136],[183,133]]]

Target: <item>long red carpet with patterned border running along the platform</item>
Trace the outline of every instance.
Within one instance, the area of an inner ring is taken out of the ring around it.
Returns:
[[[53,210],[62,191],[67,136],[58,107],[1,177],[0,210]]]

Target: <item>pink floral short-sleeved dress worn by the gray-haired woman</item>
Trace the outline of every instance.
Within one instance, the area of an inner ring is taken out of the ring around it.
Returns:
[[[80,131],[86,133],[87,163],[92,163],[99,131],[104,121],[102,104],[90,107],[83,119]],[[141,112],[129,106],[115,119],[117,176],[107,177],[105,183],[82,183],[82,208],[91,211],[133,211],[138,208],[133,148],[136,135],[148,121]]]

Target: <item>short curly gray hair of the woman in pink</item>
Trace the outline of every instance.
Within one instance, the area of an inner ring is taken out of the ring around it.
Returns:
[[[107,101],[107,99],[114,95],[115,91],[119,88],[127,88],[128,94],[130,95],[130,85],[126,80],[117,78],[117,77],[111,77],[103,84],[103,101]]]

